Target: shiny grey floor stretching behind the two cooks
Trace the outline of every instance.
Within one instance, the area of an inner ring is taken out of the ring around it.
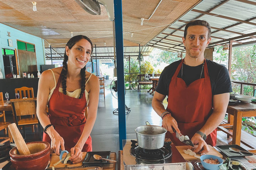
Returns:
[[[110,150],[117,153],[119,150],[118,115],[113,114],[113,111],[118,104],[110,90],[106,89],[105,91],[105,99],[103,95],[100,95],[98,116],[91,133],[93,151]],[[161,118],[151,107],[152,98],[153,96],[149,95],[147,90],[141,90],[140,92],[126,90],[125,104],[131,108],[131,112],[126,115],[126,139],[136,139],[134,129],[145,125],[145,121],[153,125],[161,125]],[[7,121],[13,121],[11,113],[6,113],[6,119]],[[22,130],[20,132],[23,133]],[[26,128],[26,134],[26,142],[39,140],[37,129],[35,133],[32,133],[31,128],[28,127]],[[0,137],[3,136],[3,131],[1,131]],[[227,139],[223,132],[218,132],[217,145],[227,145],[230,141],[231,139]]]

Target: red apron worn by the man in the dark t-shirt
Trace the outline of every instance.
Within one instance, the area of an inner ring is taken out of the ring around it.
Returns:
[[[189,139],[199,131],[212,114],[212,87],[204,60],[204,78],[198,79],[187,86],[184,80],[178,78],[184,59],[175,71],[169,84],[169,96],[167,111],[172,114],[178,122],[178,128],[183,135],[188,135]],[[175,137],[175,133],[166,133],[166,138],[170,138],[174,145],[186,145]],[[217,129],[206,138],[206,143],[215,146],[217,141]]]

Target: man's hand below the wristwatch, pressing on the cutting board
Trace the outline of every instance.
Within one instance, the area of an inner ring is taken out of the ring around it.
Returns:
[[[201,137],[200,134],[194,134],[194,136],[191,138],[191,141],[194,143],[194,145],[198,145],[194,152],[198,152],[199,154],[206,154],[207,152],[210,151],[207,143],[204,141],[204,139]],[[190,147],[189,149],[191,149],[192,147]]]

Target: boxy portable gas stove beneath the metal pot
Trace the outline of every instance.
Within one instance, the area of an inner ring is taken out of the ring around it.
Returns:
[[[149,150],[140,148],[135,140],[123,140],[122,160],[124,170],[186,169],[186,160],[170,141],[161,149]]]

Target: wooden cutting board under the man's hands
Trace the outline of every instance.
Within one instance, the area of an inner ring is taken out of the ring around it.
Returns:
[[[208,145],[208,147],[210,148],[210,152],[207,153],[207,155],[215,155],[215,156],[218,156],[220,158],[222,158],[223,156],[220,154],[220,152],[218,152],[216,149],[214,149],[212,146]],[[185,159],[185,160],[196,160],[198,158],[194,157],[194,156],[190,156],[188,154],[185,154],[183,152],[183,150],[187,150],[188,149],[188,146],[177,146],[176,147],[178,149],[178,151],[180,152],[180,154],[182,155],[182,157]],[[198,156],[201,156],[200,154],[196,154]]]

